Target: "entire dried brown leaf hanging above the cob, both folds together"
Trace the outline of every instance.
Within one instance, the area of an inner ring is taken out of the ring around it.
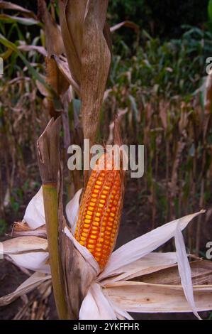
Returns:
[[[106,80],[111,43],[106,25],[107,0],[60,0],[60,25],[69,69],[80,87],[84,138],[94,143]]]

